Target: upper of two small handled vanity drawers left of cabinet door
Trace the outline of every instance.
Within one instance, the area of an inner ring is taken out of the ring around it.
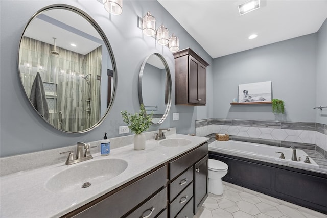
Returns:
[[[171,202],[179,192],[193,181],[193,166],[185,173],[177,177],[172,183],[169,184],[169,201]]]

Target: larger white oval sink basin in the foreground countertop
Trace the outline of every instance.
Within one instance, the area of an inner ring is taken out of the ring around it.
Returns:
[[[86,160],[76,165],[67,166],[66,169],[51,177],[45,184],[51,191],[66,191],[82,189],[84,183],[91,185],[108,181],[123,173],[128,163],[122,159]]]

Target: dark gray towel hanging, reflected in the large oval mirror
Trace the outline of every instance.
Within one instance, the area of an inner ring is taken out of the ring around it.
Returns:
[[[37,72],[32,85],[30,100],[39,114],[44,119],[49,120],[48,102],[46,102],[44,86],[39,72]]]

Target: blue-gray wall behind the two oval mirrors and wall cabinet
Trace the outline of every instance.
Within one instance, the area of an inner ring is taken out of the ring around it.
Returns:
[[[118,70],[117,94],[110,114],[96,129],[87,133],[69,134],[54,129],[40,119],[25,98],[20,87],[17,67],[17,53],[20,36],[29,18],[42,7],[51,4],[70,4],[88,13],[98,22],[111,44]],[[137,28],[137,16],[151,13],[157,19],[157,26],[165,23],[171,32],[179,37],[180,49],[191,47],[206,62],[212,65],[212,58],[179,25],[179,23],[157,1],[124,1],[123,13],[109,15],[96,0],[1,0],[0,1],[0,156],[53,149],[76,144],[77,141],[95,141],[107,132],[109,137],[120,136],[118,127],[125,126],[120,111],[134,113],[139,110],[137,80],[143,60],[152,53],[162,54],[169,65],[172,83],[175,84],[174,58],[167,47],[158,45],[152,37],[142,35]],[[194,133],[194,121],[213,116],[213,73],[207,68],[207,106],[189,107],[172,104],[167,120],[149,131],[165,127],[176,127],[178,133]],[[174,93],[173,86],[173,93]],[[175,101],[173,94],[173,103]],[[179,120],[172,121],[172,113],[179,113]]]

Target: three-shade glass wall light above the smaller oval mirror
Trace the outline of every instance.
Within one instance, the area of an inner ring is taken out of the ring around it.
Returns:
[[[160,45],[165,45],[171,52],[177,52],[179,50],[179,39],[173,33],[169,36],[169,31],[164,24],[161,24],[158,29],[155,28],[155,17],[151,15],[150,11],[144,15],[143,18],[137,17],[138,28],[142,29],[142,32],[146,36],[152,36]]]

